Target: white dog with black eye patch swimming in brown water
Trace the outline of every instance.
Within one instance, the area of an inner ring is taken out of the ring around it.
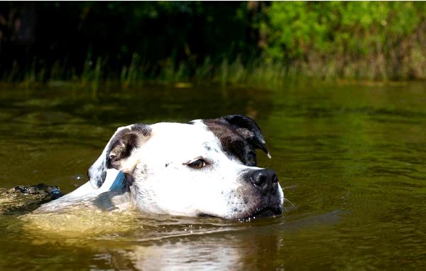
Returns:
[[[120,127],[89,167],[89,181],[37,212],[84,203],[102,209],[246,219],[283,212],[278,176],[261,129],[245,115]]]

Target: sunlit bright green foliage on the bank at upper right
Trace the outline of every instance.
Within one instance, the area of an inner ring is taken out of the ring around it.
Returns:
[[[423,3],[273,2],[266,14],[269,61],[324,78],[425,78]]]

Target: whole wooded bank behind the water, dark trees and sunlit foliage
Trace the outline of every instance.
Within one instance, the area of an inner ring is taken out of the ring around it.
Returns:
[[[1,2],[7,81],[426,78],[422,2]],[[254,78],[254,79],[253,79]]]

